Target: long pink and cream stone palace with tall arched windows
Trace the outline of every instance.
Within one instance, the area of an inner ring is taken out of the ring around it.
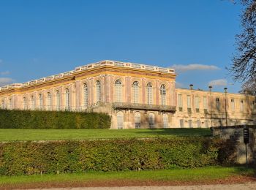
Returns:
[[[256,98],[176,88],[174,69],[99,61],[0,88],[1,109],[103,112],[111,129],[256,124]]]

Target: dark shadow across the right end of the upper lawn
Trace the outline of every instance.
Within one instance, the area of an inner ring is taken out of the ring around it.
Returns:
[[[145,131],[140,130],[136,133],[139,134],[152,134],[152,135],[172,135],[172,136],[200,136],[211,137],[211,129],[186,129],[186,128],[173,128],[173,129],[147,129]]]

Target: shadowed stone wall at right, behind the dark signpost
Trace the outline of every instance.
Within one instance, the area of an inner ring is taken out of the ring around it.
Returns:
[[[249,128],[249,144],[247,144],[248,162],[256,165],[256,125],[254,126],[225,126],[214,127],[214,137],[233,140],[236,145],[236,162],[246,163],[246,147],[244,144],[244,127]]]

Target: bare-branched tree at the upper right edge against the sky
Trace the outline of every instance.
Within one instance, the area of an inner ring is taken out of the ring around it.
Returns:
[[[236,54],[230,73],[234,80],[243,83],[242,88],[256,94],[256,0],[240,0],[241,34],[236,35]]]

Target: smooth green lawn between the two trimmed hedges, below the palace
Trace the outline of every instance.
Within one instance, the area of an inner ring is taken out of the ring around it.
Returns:
[[[210,129],[0,129],[0,141],[210,136]]]

